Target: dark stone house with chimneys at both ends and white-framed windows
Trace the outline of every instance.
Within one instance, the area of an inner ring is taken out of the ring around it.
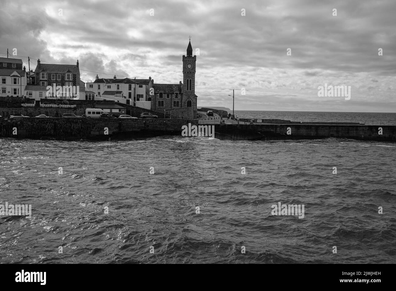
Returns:
[[[78,60],[76,65],[55,65],[42,64],[40,59],[37,60],[37,67],[34,70],[34,85],[36,86],[76,86],[78,96],[56,96],[50,94],[41,96],[41,98],[58,98],[58,99],[78,99],[79,96],[85,96],[85,84],[80,80],[80,68]],[[28,95],[36,93],[35,87],[29,86]],[[37,88],[39,89],[39,88]],[[40,92],[42,90],[40,89]],[[51,92],[52,93],[52,92]],[[34,97],[34,96],[33,96]],[[36,96],[38,97],[38,96]]]

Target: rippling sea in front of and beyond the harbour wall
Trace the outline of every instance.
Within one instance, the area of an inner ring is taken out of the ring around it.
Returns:
[[[30,218],[0,216],[0,262],[396,263],[395,150],[334,138],[0,139],[0,208],[31,205]]]

